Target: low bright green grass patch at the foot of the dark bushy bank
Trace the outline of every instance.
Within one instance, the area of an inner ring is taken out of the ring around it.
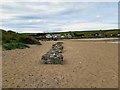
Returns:
[[[12,49],[24,49],[24,48],[29,48],[28,45],[24,43],[5,43],[3,44],[3,48],[5,50],[12,50]]]

